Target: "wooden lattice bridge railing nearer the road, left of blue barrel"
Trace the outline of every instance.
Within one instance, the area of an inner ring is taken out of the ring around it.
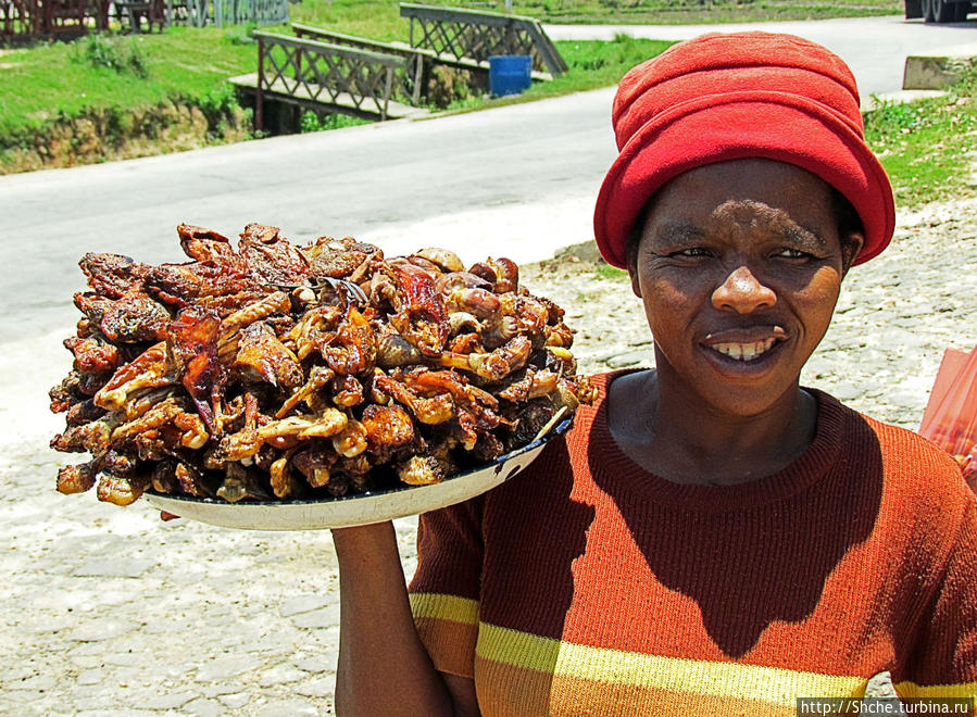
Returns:
[[[274,33],[254,33],[258,39],[258,85],[254,126],[263,128],[266,95],[322,110],[386,120],[393,91],[393,75],[403,59],[329,42],[298,39]]]

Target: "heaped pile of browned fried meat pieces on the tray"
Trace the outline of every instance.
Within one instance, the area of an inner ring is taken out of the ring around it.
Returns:
[[[86,254],[52,448],[58,490],[316,499],[427,485],[531,442],[593,400],[563,310],[506,259],[385,257],[250,224],[177,229],[183,264]]]

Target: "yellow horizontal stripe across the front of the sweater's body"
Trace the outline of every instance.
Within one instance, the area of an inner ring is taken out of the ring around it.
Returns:
[[[792,706],[798,696],[862,696],[862,677],[822,675],[761,665],[665,657],[591,647],[483,622],[476,654],[483,659],[558,677],[634,684]]]

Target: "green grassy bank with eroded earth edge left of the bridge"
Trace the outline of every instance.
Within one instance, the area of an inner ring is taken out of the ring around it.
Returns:
[[[235,39],[173,27],[0,51],[0,173],[247,138],[226,79],[256,53]]]

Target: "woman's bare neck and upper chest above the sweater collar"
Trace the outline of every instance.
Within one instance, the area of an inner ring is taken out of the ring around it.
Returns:
[[[735,416],[704,406],[669,379],[653,370],[628,374],[613,381],[608,394],[615,442],[662,478],[748,482],[784,469],[814,440],[817,403],[797,386],[761,414]]]

